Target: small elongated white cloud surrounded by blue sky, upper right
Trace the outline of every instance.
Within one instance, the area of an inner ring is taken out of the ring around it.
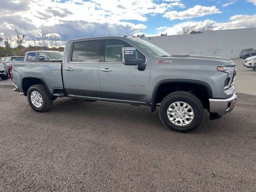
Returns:
[[[194,18],[194,17],[201,17],[204,15],[211,15],[211,14],[216,14],[216,13],[221,13],[216,6],[211,6],[211,7],[206,7],[206,6],[201,6],[201,5],[196,5],[193,8],[189,8],[185,11],[168,11],[164,14],[164,17],[169,18],[170,20],[174,19],[189,19],[189,18]]]

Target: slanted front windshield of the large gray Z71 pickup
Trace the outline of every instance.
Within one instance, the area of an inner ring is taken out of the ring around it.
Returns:
[[[158,57],[170,57],[170,54],[166,53],[164,50],[160,49],[159,47],[155,46],[154,44],[145,41],[140,38],[131,38],[133,42],[135,42],[140,48],[144,49],[149,54],[152,54],[154,56]]]

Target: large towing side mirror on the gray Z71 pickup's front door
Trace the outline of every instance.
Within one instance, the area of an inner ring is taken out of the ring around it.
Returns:
[[[138,70],[140,71],[143,71],[146,68],[143,59],[136,56],[136,49],[134,47],[122,48],[122,62],[124,65],[138,65]]]

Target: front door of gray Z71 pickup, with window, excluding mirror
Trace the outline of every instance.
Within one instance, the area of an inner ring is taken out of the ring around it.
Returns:
[[[146,102],[150,83],[150,59],[138,52],[146,62],[144,71],[122,63],[122,48],[132,47],[123,40],[102,40],[100,61],[100,96],[116,100]]]

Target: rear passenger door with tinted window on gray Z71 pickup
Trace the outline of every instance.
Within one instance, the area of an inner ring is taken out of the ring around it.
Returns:
[[[64,61],[63,82],[68,94],[100,96],[98,41],[73,43],[70,61]]]

